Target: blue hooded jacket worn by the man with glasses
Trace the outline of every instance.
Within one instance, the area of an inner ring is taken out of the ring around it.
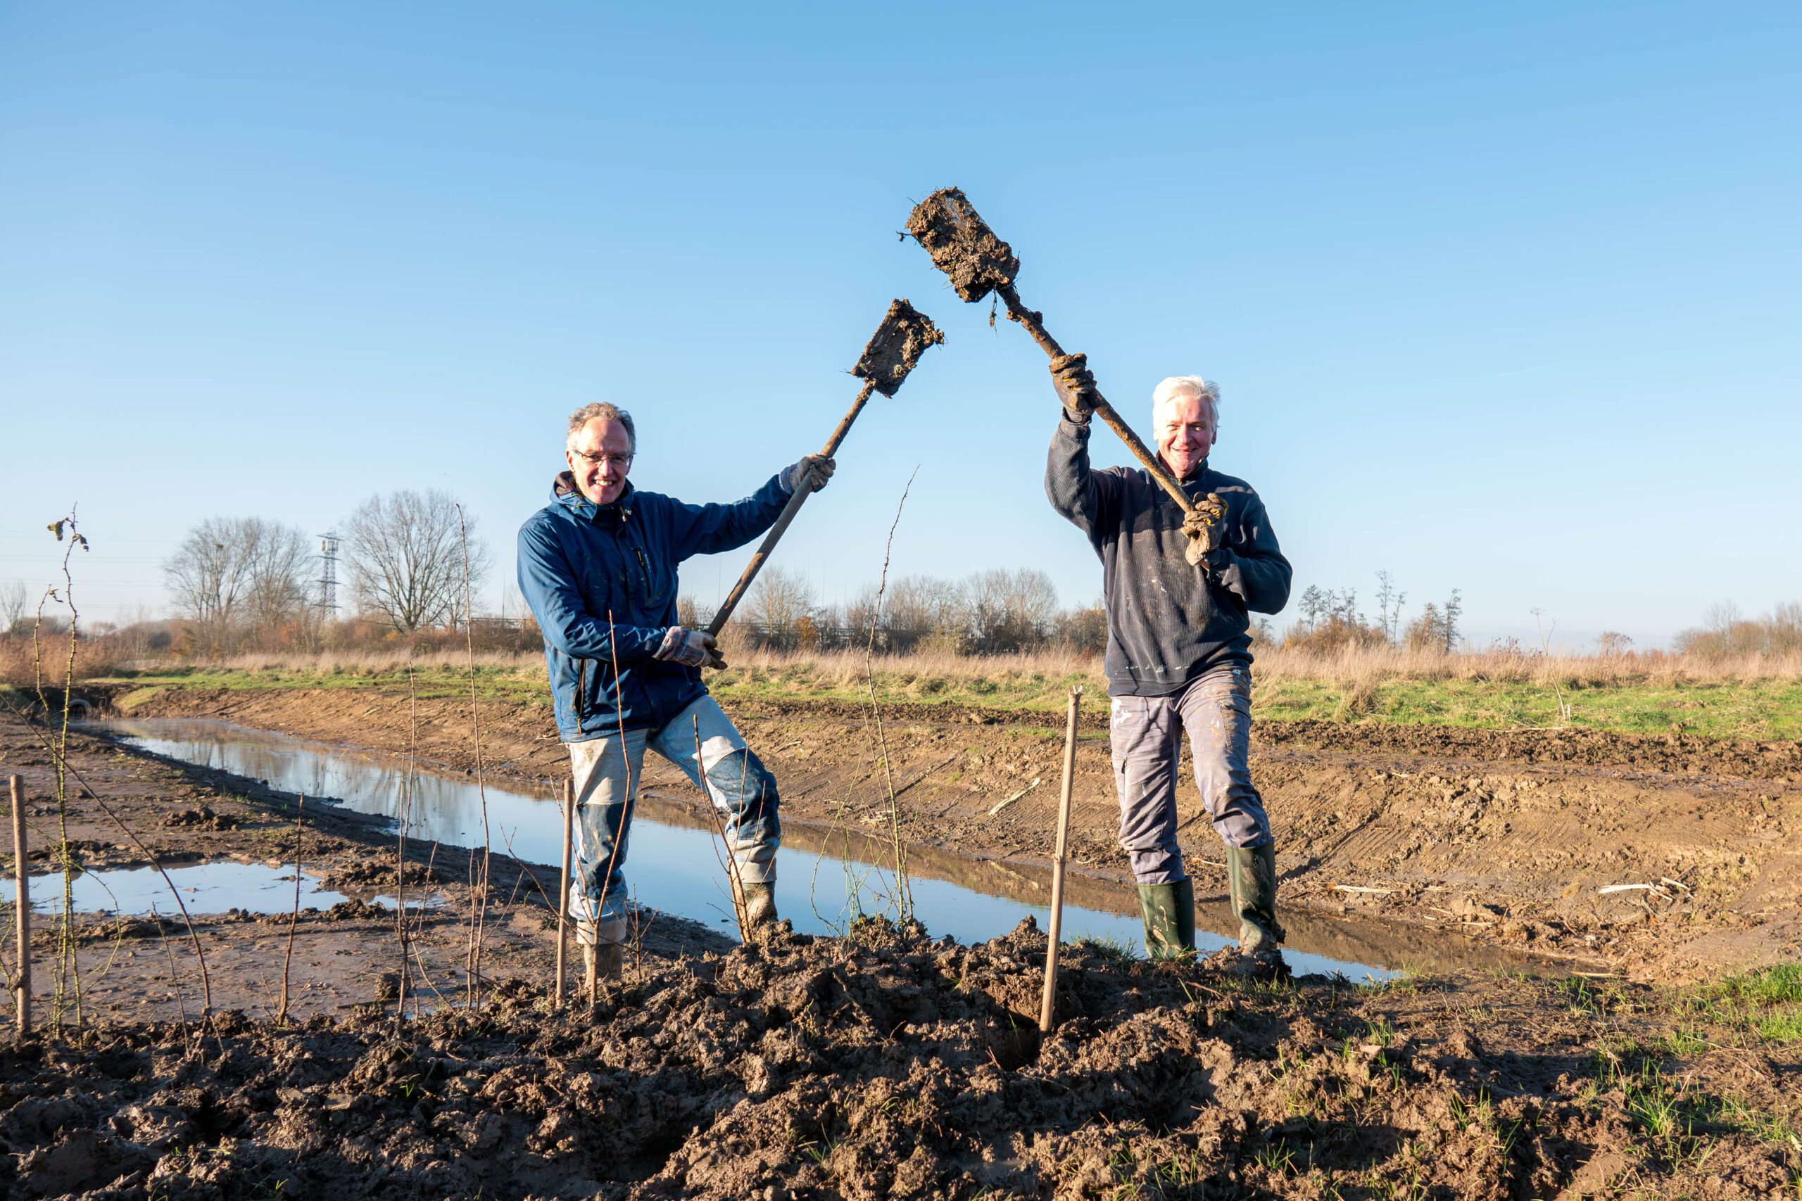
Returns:
[[[735,504],[683,504],[631,483],[596,506],[560,472],[551,502],[519,528],[519,591],[544,632],[557,733],[584,742],[661,729],[706,693],[699,668],[654,659],[676,621],[676,565],[769,529],[782,477]]]

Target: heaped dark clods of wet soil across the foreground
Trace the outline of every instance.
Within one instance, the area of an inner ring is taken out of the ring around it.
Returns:
[[[1777,1196],[1802,1057],[1647,987],[1357,990],[845,940],[656,960],[593,1012],[105,1025],[0,1052],[11,1197]],[[1652,1084],[1647,1084],[1651,1080]],[[1654,1089],[1649,1093],[1647,1089]],[[1649,1098],[1687,1125],[1669,1136]]]

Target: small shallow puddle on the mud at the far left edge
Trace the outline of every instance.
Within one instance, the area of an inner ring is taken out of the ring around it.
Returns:
[[[169,868],[169,880],[182,893],[189,913],[290,913],[294,909],[294,868],[270,868],[259,862],[202,862],[187,868]],[[74,908],[77,913],[117,913],[128,917],[175,917],[180,909],[169,895],[169,884],[155,868],[121,868],[115,871],[83,871],[74,879]],[[0,886],[0,898],[13,904],[13,880]],[[319,879],[301,873],[301,908],[330,909],[344,893],[319,886]],[[61,913],[63,877],[56,873],[31,877],[31,911]]]

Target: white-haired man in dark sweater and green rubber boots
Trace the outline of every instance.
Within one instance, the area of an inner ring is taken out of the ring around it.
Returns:
[[[1114,783],[1146,953],[1195,951],[1195,886],[1177,846],[1177,765],[1188,731],[1202,805],[1227,846],[1240,918],[1234,971],[1278,974],[1276,850],[1247,767],[1249,614],[1279,612],[1288,601],[1288,560],[1251,484],[1207,466],[1220,430],[1215,384],[1171,376],[1151,393],[1159,457],[1197,506],[1184,519],[1148,472],[1090,470],[1096,380],[1083,355],[1054,358],[1051,373],[1063,420],[1051,439],[1045,493],[1101,556]]]

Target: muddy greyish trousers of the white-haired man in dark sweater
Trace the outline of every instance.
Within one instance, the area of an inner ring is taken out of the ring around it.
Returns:
[[[1270,819],[1251,783],[1251,668],[1224,663],[1171,697],[1114,697],[1108,738],[1121,846],[1139,884],[1186,879],[1177,848],[1177,767],[1189,731],[1195,783],[1227,846],[1263,846]]]

